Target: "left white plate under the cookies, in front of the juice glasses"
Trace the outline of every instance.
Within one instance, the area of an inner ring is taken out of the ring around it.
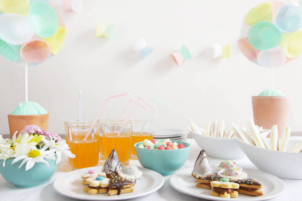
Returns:
[[[83,192],[81,175],[88,172],[89,169],[102,169],[102,167],[87,167],[68,172],[60,176],[54,183],[55,191],[63,196],[86,200],[86,201],[117,201],[125,199],[133,199],[151,194],[160,189],[164,183],[161,174],[144,167],[138,167],[143,176],[141,180],[133,187],[133,193],[126,193],[116,196],[108,196],[108,194],[88,195]]]

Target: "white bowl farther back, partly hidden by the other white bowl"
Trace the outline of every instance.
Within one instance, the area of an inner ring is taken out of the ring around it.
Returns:
[[[207,137],[193,132],[190,127],[188,129],[199,147],[204,149],[210,157],[240,159],[245,156],[235,139]]]

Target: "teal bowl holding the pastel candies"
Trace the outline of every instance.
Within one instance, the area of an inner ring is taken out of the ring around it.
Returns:
[[[159,140],[157,140],[159,141]],[[172,142],[182,143],[185,148],[157,150],[157,149],[143,149],[138,148],[142,142],[134,144],[136,156],[143,167],[152,169],[161,175],[171,175],[179,170],[186,163],[190,144],[188,142],[171,140]]]

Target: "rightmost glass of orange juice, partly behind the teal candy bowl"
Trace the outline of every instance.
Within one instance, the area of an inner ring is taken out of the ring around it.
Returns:
[[[137,159],[134,144],[141,142],[144,139],[152,139],[154,131],[154,120],[131,120],[132,126],[132,136],[131,136],[131,159]],[[146,122],[146,124],[145,124]],[[145,125],[145,127],[144,127]],[[143,130],[144,128],[144,130]]]

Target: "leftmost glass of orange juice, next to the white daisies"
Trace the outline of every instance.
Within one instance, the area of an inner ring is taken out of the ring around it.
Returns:
[[[67,143],[70,151],[76,155],[76,158],[70,159],[70,165],[73,169],[94,167],[99,163],[99,141],[100,125],[91,126],[92,123],[72,124],[68,126]],[[84,138],[92,128],[87,140]]]

